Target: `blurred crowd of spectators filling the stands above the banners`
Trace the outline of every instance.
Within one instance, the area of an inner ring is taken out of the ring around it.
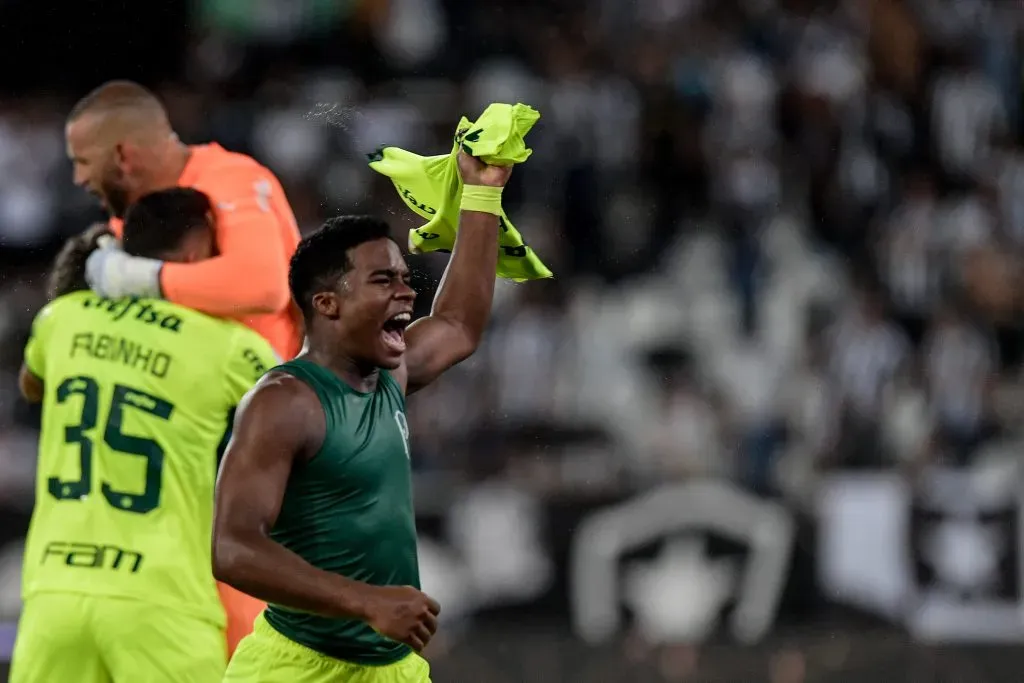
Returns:
[[[493,101],[542,113],[506,208],[556,279],[503,284],[485,348],[412,403],[425,490],[716,477],[804,509],[828,469],[1019,449],[1019,2],[237,4],[198,3],[147,85],[183,139],[278,173],[305,230],[383,213],[403,243],[366,153],[444,153]],[[81,94],[0,99],[0,506],[22,515],[20,349],[54,246],[95,217],[63,154]],[[411,263],[425,312],[444,258]]]

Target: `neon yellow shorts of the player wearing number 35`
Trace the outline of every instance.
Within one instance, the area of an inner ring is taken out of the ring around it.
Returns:
[[[10,683],[220,683],[215,624],[136,600],[40,593],[22,610]]]

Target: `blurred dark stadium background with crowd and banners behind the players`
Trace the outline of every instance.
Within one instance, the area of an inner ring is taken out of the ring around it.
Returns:
[[[399,241],[364,153],[542,112],[507,208],[558,278],[501,287],[411,403],[435,680],[1017,680],[1022,27],[1019,0],[0,0],[0,649],[20,350],[98,216],[62,119],[131,78],[304,229]],[[444,261],[411,262],[425,311]],[[594,516],[636,500],[629,531]]]

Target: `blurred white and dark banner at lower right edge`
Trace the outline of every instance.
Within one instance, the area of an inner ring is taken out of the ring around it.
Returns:
[[[818,499],[821,589],[922,641],[1024,641],[1016,472],[836,474]]]

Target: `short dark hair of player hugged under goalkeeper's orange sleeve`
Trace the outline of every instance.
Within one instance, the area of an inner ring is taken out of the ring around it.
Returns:
[[[166,260],[195,229],[210,229],[210,198],[191,187],[144,195],[125,213],[121,248],[125,253]]]

